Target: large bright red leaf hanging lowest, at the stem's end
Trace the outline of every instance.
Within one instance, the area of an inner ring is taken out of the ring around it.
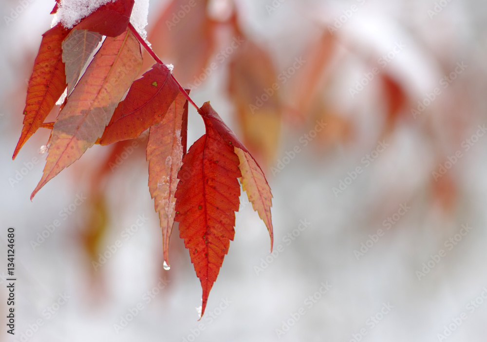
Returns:
[[[180,237],[203,288],[201,315],[230,240],[235,235],[235,211],[239,209],[239,158],[205,118],[206,134],[183,158],[178,173],[176,217]]]

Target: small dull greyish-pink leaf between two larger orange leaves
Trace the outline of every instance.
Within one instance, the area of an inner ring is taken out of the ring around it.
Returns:
[[[81,70],[98,46],[102,36],[88,30],[73,29],[71,34],[62,42],[62,60],[66,65],[66,82],[68,94],[71,94]]]

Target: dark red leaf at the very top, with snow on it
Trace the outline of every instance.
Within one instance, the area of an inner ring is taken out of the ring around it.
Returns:
[[[78,30],[98,32],[107,37],[117,37],[127,30],[134,0],[115,0],[100,6],[77,25]]]

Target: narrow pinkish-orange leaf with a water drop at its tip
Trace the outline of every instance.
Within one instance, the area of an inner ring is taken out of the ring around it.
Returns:
[[[174,193],[179,182],[177,172],[183,159],[182,124],[187,117],[187,99],[179,93],[161,123],[150,127],[147,143],[149,161],[149,190],[154,198],[155,211],[161,221],[164,260],[169,265],[169,238],[174,223],[176,199]]]

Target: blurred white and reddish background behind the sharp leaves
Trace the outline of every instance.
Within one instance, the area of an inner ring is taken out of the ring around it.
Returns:
[[[0,4],[1,298],[8,227],[18,278],[0,341],[485,341],[485,2],[150,0],[154,51],[274,195],[273,254],[243,194],[200,322],[176,228],[163,267],[147,135],[94,146],[29,200],[49,131],[12,154],[53,6]],[[188,143],[203,133],[190,108]]]

